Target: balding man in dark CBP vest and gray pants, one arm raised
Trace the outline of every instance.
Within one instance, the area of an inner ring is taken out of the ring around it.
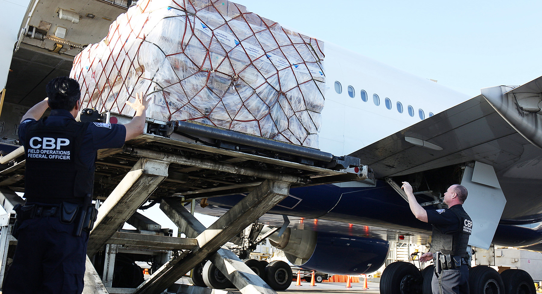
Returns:
[[[431,281],[434,294],[468,294],[469,272],[467,245],[473,222],[463,209],[467,188],[451,185],[444,193],[448,208],[425,210],[412,193],[412,186],[403,182],[410,210],[417,219],[433,225],[431,251],[420,256],[420,262],[435,259],[435,273]]]

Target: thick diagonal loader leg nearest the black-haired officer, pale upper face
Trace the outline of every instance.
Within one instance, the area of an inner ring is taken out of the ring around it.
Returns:
[[[167,177],[169,162],[139,159],[98,211],[88,240],[88,256],[98,252]]]

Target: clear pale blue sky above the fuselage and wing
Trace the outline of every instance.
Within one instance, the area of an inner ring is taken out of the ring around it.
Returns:
[[[542,1],[234,2],[470,96],[542,76]]]

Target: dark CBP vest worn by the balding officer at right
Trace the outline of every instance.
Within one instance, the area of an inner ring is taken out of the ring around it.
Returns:
[[[463,205],[454,205],[448,209],[459,218],[459,228],[456,231],[445,232],[443,227],[433,225],[431,252],[440,251],[443,254],[467,257],[467,245],[472,233],[473,221],[463,210]]]

